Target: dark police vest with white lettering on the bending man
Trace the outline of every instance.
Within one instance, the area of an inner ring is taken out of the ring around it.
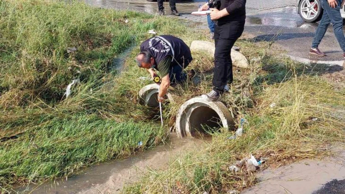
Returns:
[[[144,41],[140,45],[140,51],[148,51],[151,54],[156,61],[155,69],[157,69],[157,64],[168,56],[173,57],[171,65],[179,64],[183,68],[193,60],[186,43],[171,35],[161,35]]]

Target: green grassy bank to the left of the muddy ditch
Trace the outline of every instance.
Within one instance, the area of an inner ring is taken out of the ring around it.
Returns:
[[[113,60],[150,37],[149,29],[183,34],[183,25],[77,1],[5,0],[0,15],[0,192],[166,139],[165,129],[147,122],[152,111],[136,102],[145,84],[137,78],[146,72],[136,67],[135,76],[117,75]],[[66,99],[73,79],[80,83]]]

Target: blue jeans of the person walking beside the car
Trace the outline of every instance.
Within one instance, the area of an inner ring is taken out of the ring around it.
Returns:
[[[340,7],[342,0],[337,0],[338,6],[336,8],[331,8],[327,0],[321,0],[321,6],[324,10],[322,19],[316,29],[315,37],[313,40],[312,48],[315,49],[319,46],[322,38],[324,37],[328,25],[332,22],[333,31],[335,37],[337,38],[340,47],[345,53],[345,37],[343,32],[343,18],[340,14]]]

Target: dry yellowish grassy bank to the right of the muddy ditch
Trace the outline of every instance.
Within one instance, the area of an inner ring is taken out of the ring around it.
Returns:
[[[296,63],[271,43],[242,39],[236,43],[250,60],[249,69],[234,69],[234,85],[222,97],[236,120],[245,118],[245,133],[229,140],[234,132],[214,134],[210,143],[178,157],[168,166],[149,170],[124,193],[238,193],[258,182],[245,167],[231,172],[228,167],[252,153],[268,157],[260,166],[275,167],[306,158],[334,154],[332,146],[345,143],[345,89],[334,90],[322,74],[327,65]],[[201,84],[187,83],[174,92],[173,119],[180,104],[208,92],[212,60],[194,53],[190,68],[198,70]],[[183,92],[178,92],[183,91]],[[275,103],[276,106],[270,107]],[[315,119],[317,119],[315,121]],[[239,123],[239,122],[237,122]]]

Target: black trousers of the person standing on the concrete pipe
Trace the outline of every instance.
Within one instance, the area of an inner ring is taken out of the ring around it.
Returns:
[[[214,89],[223,91],[224,86],[233,82],[233,62],[230,52],[236,40],[242,35],[244,22],[218,24],[215,28],[215,68],[212,84]]]

